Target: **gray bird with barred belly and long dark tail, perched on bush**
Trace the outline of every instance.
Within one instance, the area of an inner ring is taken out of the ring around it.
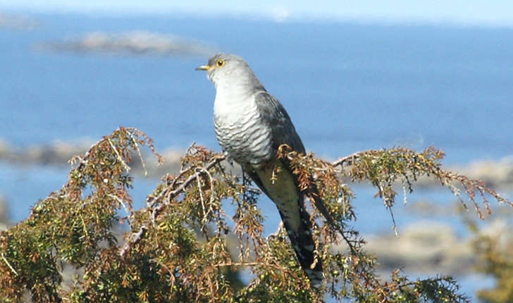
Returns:
[[[315,260],[304,193],[290,164],[277,157],[281,144],[305,152],[287,111],[239,56],[216,54],[196,70],[206,70],[216,87],[214,128],[223,152],[276,204],[299,264],[311,285],[319,287],[322,264]]]

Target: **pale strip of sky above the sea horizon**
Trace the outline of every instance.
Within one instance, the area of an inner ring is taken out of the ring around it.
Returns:
[[[513,27],[512,0],[0,0],[1,11],[188,13],[200,16],[257,16],[277,21],[356,20]]]

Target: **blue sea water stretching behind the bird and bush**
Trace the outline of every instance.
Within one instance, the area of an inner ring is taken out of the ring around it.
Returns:
[[[208,54],[49,51],[41,44],[91,32],[171,34],[244,57],[283,103],[311,152],[336,159],[365,149],[431,145],[447,165],[513,154],[513,30],[455,25],[274,22],[252,18],[28,14],[31,29],[0,27],[0,138],[25,148],[99,140],[139,128],[158,150],[192,142],[219,150],[214,86],[194,68]],[[0,162],[0,193],[13,221],[66,183],[66,166]],[[156,180],[138,178],[142,206]],[[418,193],[440,204],[449,190]],[[268,228],[278,218],[270,202]],[[393,233],[372,192],[357,194],[358,228]],[[419,218],[395,214],[399,228]],[[464,228],[459,218],[443,218]],[[483,278],[483,277],[481,277]],[[472,280],[474,279],[474,280]],[[464,290],[489,280],[466,278]],[[488,282],[486,282],[488,281]]]

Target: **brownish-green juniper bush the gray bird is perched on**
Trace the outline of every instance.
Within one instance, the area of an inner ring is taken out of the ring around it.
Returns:
[[[409,280],[399,271],[390,280],[378,277],[376,258],[349,228],[356,216],[343,180],[376,186],[390,209],[394,184],[411,191],[420,175],[466,192],[480,216],[476,192],[487,211],[488,196],[507,202],[476,180],[444,171],[443,154],[433,148],[368,151],[328,163],[284,146],[278,156],[290,160],[311,201],[316,252],[326,276],[316,290],[284,230],[264,237],[258,191],[227,173],[221,154],[190,147],[180,172],[163,176],[147,206],[132,209],[127,163],[141,157],[144,145],[154,152],[152,140],[133,128],[104,137],[72,160],[61,190],[1,233],[0,302],[27,295],[34,302],[468,302],[450,277]],[[235,206],[233,216],[225,213],[225,203]],[[123,218],[120,209],[127,214]],[[118,221],[129,227],[122,241],[113,232]],[[64,264],[75,268],[71,282],[63,283]],[[238,276],[242,270],[250,275],[247,285]]]

